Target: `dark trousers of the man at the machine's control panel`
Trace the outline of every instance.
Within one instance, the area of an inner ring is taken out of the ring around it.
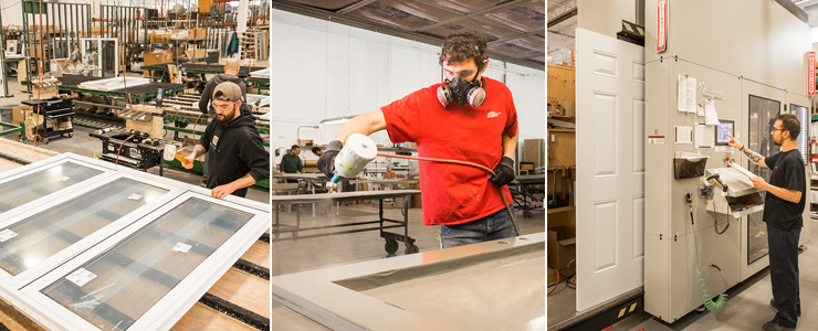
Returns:
[[[769,194],[769,193],[767,193]],[[769,280],[773,285],[773,301],[778,312],[774,322],[795,328],[801,300],[798,286],[798,238],[800,228],[778,229],[767,223],[767,244],[769,245]]]

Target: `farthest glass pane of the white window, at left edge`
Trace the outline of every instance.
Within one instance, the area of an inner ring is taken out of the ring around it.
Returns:
[[[0,213],[82,182],[101,170],[64,162],[0,184]]]

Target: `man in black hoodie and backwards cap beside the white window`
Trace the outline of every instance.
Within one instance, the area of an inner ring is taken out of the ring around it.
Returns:
[[[270,153],[255,129],[255,120],[241,111],[242,95],[239,85],[224,82],[213,92],[216,118],[210,121],[204,135],[187,158],[185,168],[193,167],[193,160],[208,153],[211,169],[207,186],[213,197],[228,194],[245,196],[248,186],[270,177]]]

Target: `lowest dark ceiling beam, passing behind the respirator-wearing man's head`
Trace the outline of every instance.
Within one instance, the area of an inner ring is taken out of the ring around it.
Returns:
[[[443,39],[441,38],[430,36],[428,34],[410,32],[410,31],[395,29],[395,28],[387,26],[387,25],[376,24],[373,22],[364,21],[364,20],[356,19],[356,18],[349,18],[345,15],[339,15],[332,11],[316,9],[316,8],[300,4],[300,3],[273,2],[272,8],[315,18],[315,19],[319,19],[319,20],[331,21],[331,22],[335,22],[338,24],[375,31],[378,33],[394,35],[394,36],[398,36],[402,39],[408,39],[411,41],[417,41],[417,42],[421,42],[421,43],[426,43],[430,45],[440,46],[443,44]],[[489,52],[486,55],[497,61],[513,63],[516,65],[522,65],[525,67],[541,70],[541,71],[545,70],[545,63],[542,63],[538,61],[533,61],[528,58],[514,58],[514,57],[505,56],[505,55],[497,54],[494,52]]]

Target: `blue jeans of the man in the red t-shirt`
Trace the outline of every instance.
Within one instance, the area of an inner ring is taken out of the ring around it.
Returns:
[[[514,212],[513,205],[511,210]],[[506,209],[463,224],[440,226],[440,244],[442,248],[496,241],[517,235]]]

